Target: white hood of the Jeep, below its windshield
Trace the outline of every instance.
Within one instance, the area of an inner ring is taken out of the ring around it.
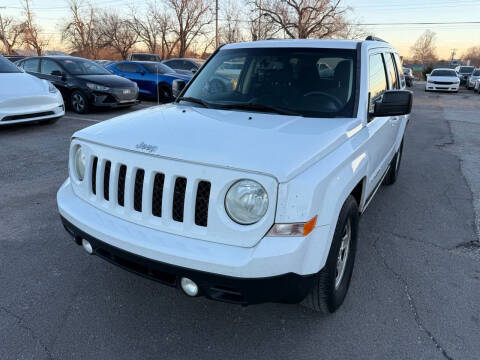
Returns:
[[[303,118],[183,105],[155,106],[80,130],[75,138],[288,181],[346,141],[357,119]]]

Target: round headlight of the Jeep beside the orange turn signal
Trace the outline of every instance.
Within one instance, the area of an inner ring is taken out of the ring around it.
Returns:
[[[260,221],[267,209],[267,192],[262,185],[253,180],[237,181],[225,196],[225,210],[228,216],[242,225]]]

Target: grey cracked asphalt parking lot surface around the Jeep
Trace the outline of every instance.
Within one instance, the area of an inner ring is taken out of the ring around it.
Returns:
[[[423,86],[328,317],[187,298],[74,245],[55,199],[70,136],[135,108],[0,128],[0,359],[478,359],[480,96]]]

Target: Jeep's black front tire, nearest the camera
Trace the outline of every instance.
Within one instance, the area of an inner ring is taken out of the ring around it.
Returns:
[[[353,266],[355,264],[358,220],[357,202],[352,195],[349,195],[338,216],[325,267],[314,280],[312,290],[302,302],[303,306],[322,314],[331,314],[342,305],[350,286],[350,279],[352,278]],[[343,238],[347,226],[350,226],[350,241],[349,246],[345,250],[343,248]],[[337,274],[337,266],[341,257],[344,258],[345,265],[343,267],[343,273],[341,277],[339,277]]]

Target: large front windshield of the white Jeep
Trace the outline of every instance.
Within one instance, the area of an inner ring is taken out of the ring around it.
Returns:
[[[355,62],[345,49],[221,50],[183,96],[224,109],[353,117]]]

